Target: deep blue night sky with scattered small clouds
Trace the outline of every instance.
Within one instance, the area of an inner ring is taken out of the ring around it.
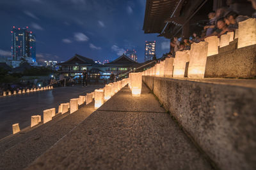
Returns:
[[[146,0],[1,0],[0,55],[9,56],[12,26],[36,35],[36,60],[65,61],[75,53],[114,60],[135,49],[144,61],[145,41],[156,40],[156,54],[169,51],[168,39],[144,34]]]

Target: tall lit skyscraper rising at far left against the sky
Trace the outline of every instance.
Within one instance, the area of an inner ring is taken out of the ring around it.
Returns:
[[[31,57],[33,62],[36,61],[36,38],[35,34],[28,31],[26,28],[15,28],[12,33],[12,57],[17,60],[17,57]]]

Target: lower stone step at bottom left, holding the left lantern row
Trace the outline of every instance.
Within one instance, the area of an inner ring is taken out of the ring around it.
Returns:
[[[57,115],[52,121],[25,129],[17,136],[3,139],[0,143],[0,169],[23,169],[54,143],[87,118],[94,109],[94,102],[79,106],[72,113]]]

